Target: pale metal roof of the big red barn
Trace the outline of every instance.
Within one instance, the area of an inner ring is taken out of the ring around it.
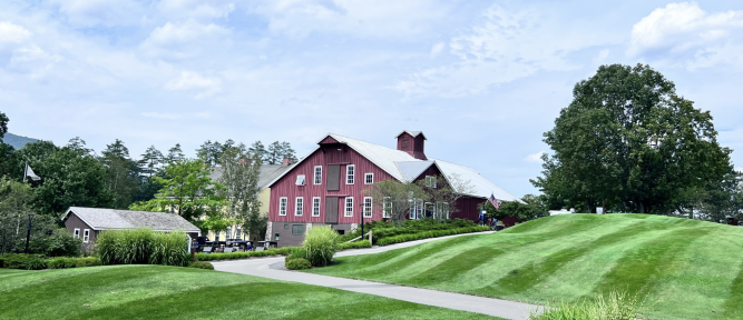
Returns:
[[[410,131],[403,131],[403,132],[410,133]],[[400,133],[402,134],[402,132]],[[477,171],[475,171],[469,167],[431,158],[429,158],[429,160],[420,160],[413,158],[405,151],[392,149],[389,147],[374,144],[366,141],[361,141],[358,139],[343,137],[334,133],[329,133],[327,136],[332,137],[340,143],[349,146],[349,148],[359,152],[361,156],[366,158],[372,163],[377,164],[380,169],[384,170],[387,173],[390,173],[390,176],[392,176],[394,179],[398,179],[399,181],[403,182],[413,181],[418,179],[418,177],[420,177],[420,174],[423,173],[426,169],[430,168],[431,166],[437,166],[441,171],[441,173],[443,173],[444,178],[447,179],[448,177],[457,174],[462,179],[462,181],[470,181],[475,190],[472,194],[468,196],[478,198],[489,198],[490,194],[493,194],[498,200],[501,201],[524,202],[518,197],[498,187],[496,183],[480,176],[480,173],[478,173]],[[327,136],[323,137],[323,139],[321,139],[320,141],[323,141],[325,138],[327,138]],[[313,150],[312,152],[315,152],[317,149]],[[312,152],[310,154],[312,154]],[[299,166],[304,159],[307,158],[309,157],[304,157],[302,160],[292,166],[292,168]],[[281,176],[277,176],[271,183],[268,183],[268,187],[278,181],[281,177],[289,173],[290,171],[291,168],[290,170],[284,171]]]

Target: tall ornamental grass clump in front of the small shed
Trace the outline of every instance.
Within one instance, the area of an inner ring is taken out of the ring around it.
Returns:
[[[183,231],[106,230],[96,241],[104,264],[188,266],[189,238]]]

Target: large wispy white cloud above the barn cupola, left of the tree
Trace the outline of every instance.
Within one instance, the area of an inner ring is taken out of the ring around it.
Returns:
[[[429,93],[461,97],[482,93],[490,86],[511,82],[539,70],[571,70],[565,57],[607,41],[545,23],[535,10],[509,11],[499,6],[449,41],[457,62],[426,69],[392,87],[405,97]]]

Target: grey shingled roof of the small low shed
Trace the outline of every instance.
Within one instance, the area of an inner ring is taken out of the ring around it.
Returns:
[[[176,213],[105,208],[70,207],[62,220],[74,213],[92,230],[151,228],[155,231],[199,232],[198,227]]]

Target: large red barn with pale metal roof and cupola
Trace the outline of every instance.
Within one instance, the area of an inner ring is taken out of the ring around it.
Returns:
[[[268,183],[266,240],[277,241],[278,247],[299,246],[306,230],[319,224],[349,232],[361,222],[360,203],[373,202],[362,191],[375,181],[389,179],[431,179],[436,184],[433,177],[456,174],[469,180],[473,192],[454,203],[458,210],[452,219],[477,220],[477,206],[491,193],[501,201],[521,201],[468,167],[428,158],[422,132],[402,131],[395,138],[397,149],[332,133],[321,139],[314,151]],[[416,201],[411,209],[410,219],[419,219],[430,216],[436,203]],[[372,208],[371,216],[364,219],[381,220],[382,216],[381,208]]]

